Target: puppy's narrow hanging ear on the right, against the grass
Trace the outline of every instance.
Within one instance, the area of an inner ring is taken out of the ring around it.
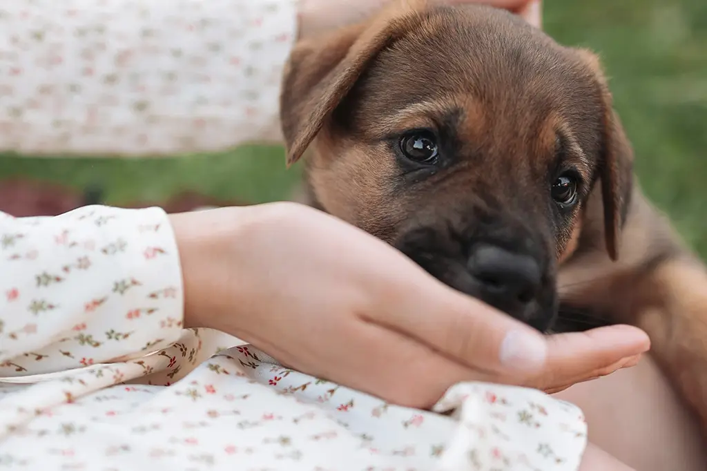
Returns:
[[[600,180],[604,202],[604,238],[612,260],[619,258],[621,228],[631,204],[633,190],[633,149],[614,111],[612,95],[599,58],[588,50],[578,50],[580,58],[596,76],[602,95],[602,147]]]

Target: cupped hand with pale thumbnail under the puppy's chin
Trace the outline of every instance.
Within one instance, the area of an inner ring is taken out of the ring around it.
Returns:
[[[187,327],[227,332],[291,368],[400,405],[431,407],[472,380],[554,392],[648,349],[628,326],[544,337],[300,204],[171,218]]]

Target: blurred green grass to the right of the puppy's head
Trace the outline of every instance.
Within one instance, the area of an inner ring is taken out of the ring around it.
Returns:
[[[707,1],[548,0],[545,18],[600,52],[643,189],[707,259]]]

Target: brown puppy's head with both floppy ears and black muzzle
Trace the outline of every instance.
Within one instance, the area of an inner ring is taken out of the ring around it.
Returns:
[[[617,257],[632,157],[597,60],[510,13],[399,1],[300,42],[281,120],[322,209],[539,330],[595,187]]]

